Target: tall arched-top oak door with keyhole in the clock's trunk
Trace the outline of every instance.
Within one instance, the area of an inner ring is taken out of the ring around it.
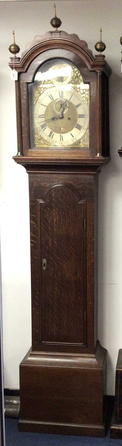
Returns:
[[[45,202],[38,200],[40,342],[84,346],[85,201],[79,200],[75,188],[65,184],[52,186],[44,195]],[[44,259],[46,269],[43,269]]]

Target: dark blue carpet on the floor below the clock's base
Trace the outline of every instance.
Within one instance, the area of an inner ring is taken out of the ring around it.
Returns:
[[[11,418],[5,419],[5,439],[6,446],[122,446],[122,440],[110,438],[110,431],[105,438],[19,432],[18,420]]]

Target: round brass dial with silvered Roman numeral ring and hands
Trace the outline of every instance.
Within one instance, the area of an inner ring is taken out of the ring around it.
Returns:
[[[89,124],[89,108],[78,91],[52,87],[35,105],[37,132],[51,145],[67,146],[78,141]]]

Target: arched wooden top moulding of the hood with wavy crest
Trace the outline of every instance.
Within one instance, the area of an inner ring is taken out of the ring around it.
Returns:
[[[52,49],[69,49],[74,51],[75,54],[82,54],[84,62],[88,66],[89,70],[98,71],[101,70],[109,77],[111,69],[105,61],[105,56],[96,55],[93,56],[91,50],[89,50],[87,43],[84,40],[79,39],[77,34],[68,34],[65,31],[57,31],[45,33],[43,36],[37,35],[32,42],[29,42],[25,50],[23,51],[21,58],[14,59],[14,67],[18,72],[25,72],[28,69],[29,64],[39,54],[46,50]],[[13,69],[13,57],[10,58],[9,66]]]

